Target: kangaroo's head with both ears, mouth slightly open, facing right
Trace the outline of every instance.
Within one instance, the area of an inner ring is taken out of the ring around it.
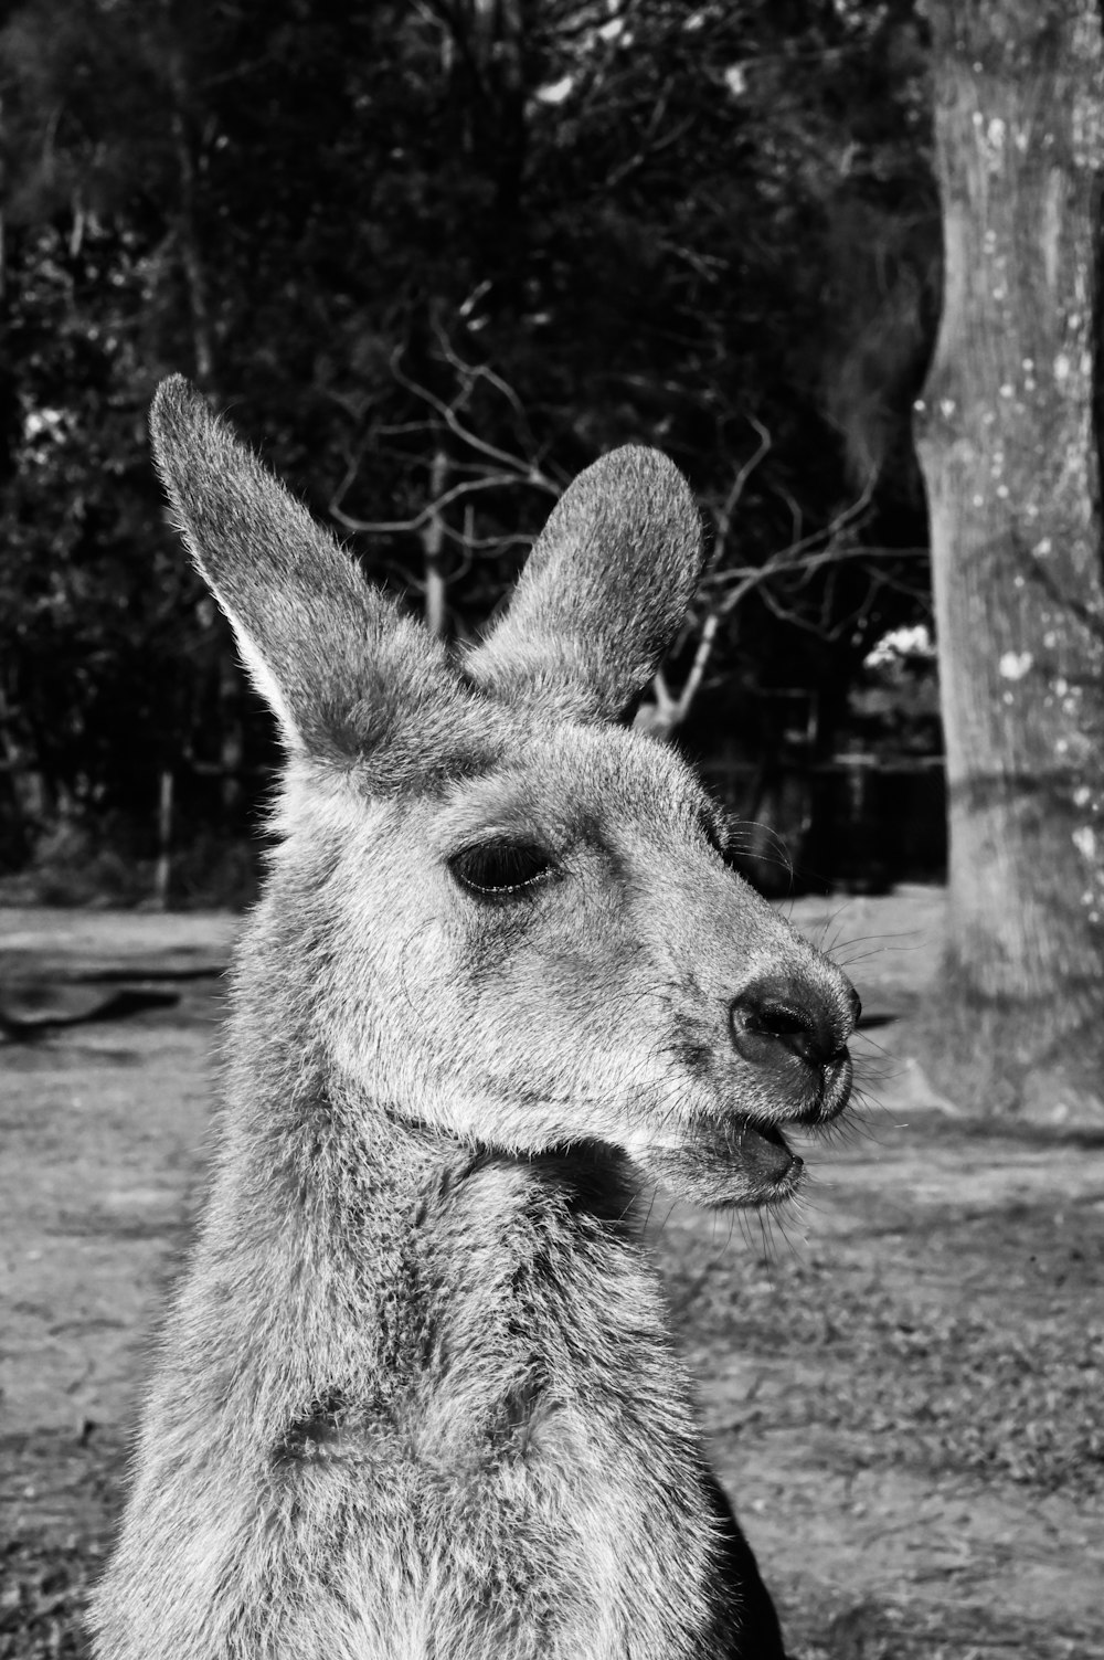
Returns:
[[[699,576],[674,465],[589,466],[457,664],[179,377],[151,427],[287,749],[254,1026],[345,1111],[506,1155],[599,1142],[707,1204],[792,1194],[784,1125],[843,1109],[855,993],[619,724]]]

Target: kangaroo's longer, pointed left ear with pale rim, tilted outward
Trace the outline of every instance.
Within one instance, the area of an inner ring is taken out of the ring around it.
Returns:
[[[149,430],[184,541],[287,747],[385,757],[392,774],[405,760],[427,777],[450,720],[455,749],[452,706],[470,702],[438,642],[364,581],[181,375],[158,387]]]

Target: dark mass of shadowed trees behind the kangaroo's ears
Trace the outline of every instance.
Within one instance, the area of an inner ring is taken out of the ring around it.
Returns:
[[[699,754],[830,752],[867,649],[926,603],[903,437],[938,236],[905,0],[25,0],[0,98],[27,845],[63,803],[153,823],[176,757],[183,828],[241,828],[204,779],[271,759],[148,465],[169,369],[457,636],[569,475],[662,445],[716,535],[664,717],[689,681]]]

